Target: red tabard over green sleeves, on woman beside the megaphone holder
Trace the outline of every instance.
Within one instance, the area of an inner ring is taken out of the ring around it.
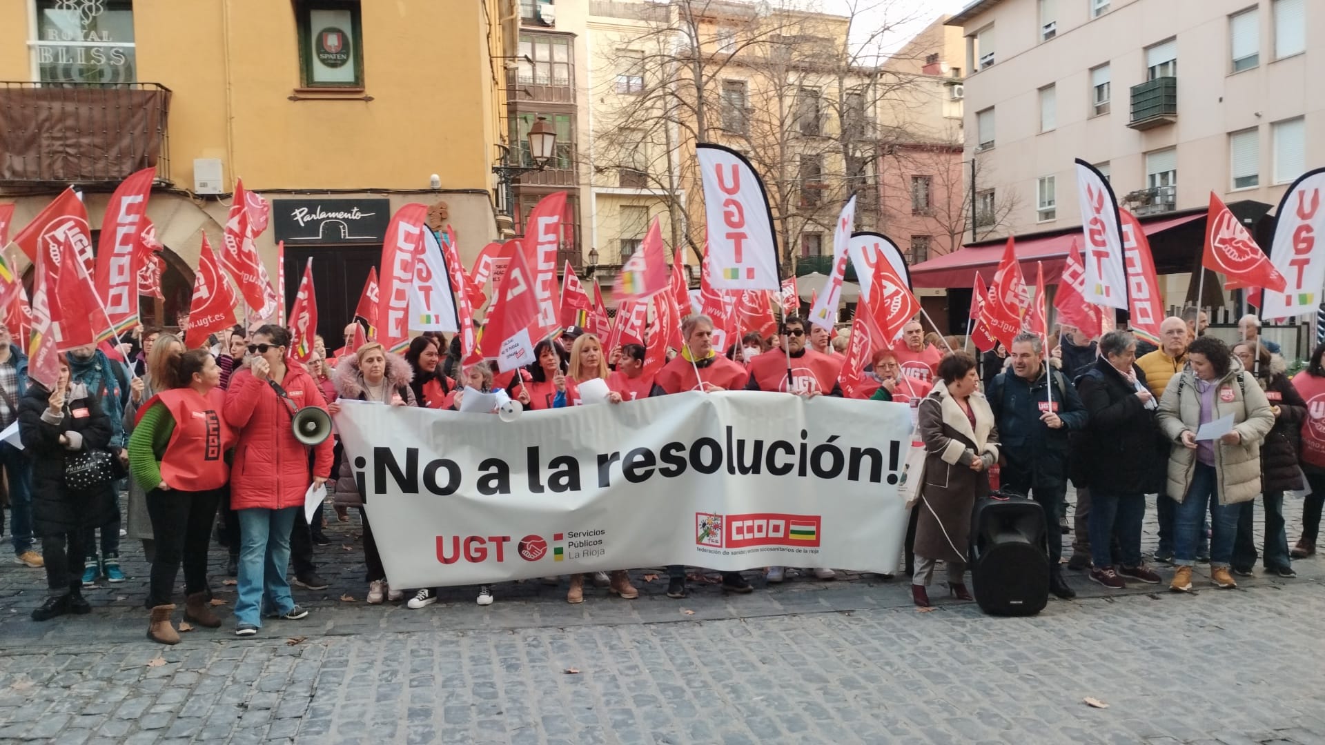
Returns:
[[[225,423],[225,391],[212,388],[207,398],[193,388],[171,388],[152,396],[175,418],[175,431],[162,456],[162,479],[171,489],[205,492],[231,479],[225,451],[235,445],[235,428]],[[151,402],[143,406],[147,411]]]

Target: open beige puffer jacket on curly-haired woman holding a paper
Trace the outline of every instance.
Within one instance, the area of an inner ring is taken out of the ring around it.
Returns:
[[[1224,400],[1224,398],[1232,400]],[[1234,415],[1234,431],[1242,436],[1236,445],[1219,440],[1215,445],[1215,483],[1219,504],[1246,502],[1260,493],[1260,445],[1275,426],[1269,400],[1242,362],[1232,358],[1228,372],[1219,380],[1211,420]],[[1169,452],[1169,496],[1181,502],[1196,471],[1196,451],[1182,444],[1182,433],[1200,427],[1200,394],[1191,367],[1174,375],[1159,400],[1159,428],[1173,443]]]

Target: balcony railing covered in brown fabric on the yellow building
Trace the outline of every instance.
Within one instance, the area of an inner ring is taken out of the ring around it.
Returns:
[[[170,180],[171,90],[140,84],[0,81],[0,184]]]

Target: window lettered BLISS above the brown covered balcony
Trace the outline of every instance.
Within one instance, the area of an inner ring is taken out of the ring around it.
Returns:
[[[36,0],[41,82],[136,82],[132,0]]]

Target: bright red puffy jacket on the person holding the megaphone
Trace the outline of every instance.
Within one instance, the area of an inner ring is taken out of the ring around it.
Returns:
[[[326,408],[318,384],[303,370],[289,367],[281,387],[297,408]],[[231,465],[232,509],[284,509],[303,505],[313,484],[309,448],[290,431],[290,410],[265,380],[244,367],[231,376],[225,391],[225,420],[238,430]],[[313,448],[314,472],[331,475],[331,437]]]

